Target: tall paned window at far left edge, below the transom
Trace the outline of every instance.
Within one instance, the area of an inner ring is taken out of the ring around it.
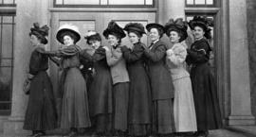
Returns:
[[[0,114],[10,114],[14,15],[0,15]]]

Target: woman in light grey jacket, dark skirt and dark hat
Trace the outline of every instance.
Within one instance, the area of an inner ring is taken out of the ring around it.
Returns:
[[[129,76],[126,69],[125,60],[122,58],[120,50],[121,39],[125,33],[115,22],[110,22],[103,31],[103,36],[110,44],[110,48],[104,46],[106,50],[107,63],[113,79],[113,128],[114,134],[124,135],[127,131]]]

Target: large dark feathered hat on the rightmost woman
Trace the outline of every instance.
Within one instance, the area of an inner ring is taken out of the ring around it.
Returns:
[[[194,29],[195,26],[199,26],[204,29],[205,37],[210,39],[210,27],[213,26],[213,21],[208,19],[206,16],[193,16],[193,19],[190,21],[189,26]]]

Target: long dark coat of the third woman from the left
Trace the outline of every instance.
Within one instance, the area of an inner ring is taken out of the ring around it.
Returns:
[[[81,57],[93,62],[95,69],[95,75],[88,93],[90,116],[112,113],[112,77],[106,61],[105,49],[100,46],[93,56],[83,51]]]

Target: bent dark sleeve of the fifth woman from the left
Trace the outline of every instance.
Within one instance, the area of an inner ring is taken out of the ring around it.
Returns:
[[[131,51],[126,46],[122,46],[121,51],[123,53],[123,58],[127,62],[134,62],[139,60],[142,57],[144,52],[143,47],[141,45],[137,45],[137,47],[135,47],[133,51]]]

